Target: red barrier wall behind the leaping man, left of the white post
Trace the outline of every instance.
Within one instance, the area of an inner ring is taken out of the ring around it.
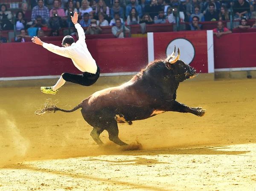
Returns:
[[[50,43],[61,46],[60,41]],[[102,73],[140,71],[148,63],[147,38],[86,40]],[[49,52],[34,43],[0,44],[0,77],[81,73],[69,58]]]

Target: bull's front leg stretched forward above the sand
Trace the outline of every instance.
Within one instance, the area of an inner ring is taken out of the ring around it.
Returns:
[[[201,107],[198,108],[190,108],[189,106],[183,104],[183,103],[179,103],[175,100],[172,100],[171,102],[169,102],[168,105],[166,105],[166,110],[167,111],[177,111],[177,112],[181,112],[181,113],[191,113],[191,114],[195,114],[199,117],[204,116],[206,109],[202,109]]]

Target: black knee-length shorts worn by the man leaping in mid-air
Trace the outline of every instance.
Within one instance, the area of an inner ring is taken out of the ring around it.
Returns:
[[[99,78],[99,74],[100,74],[100,68],[99,66],[97,66],[96,74],[92,74],[88,72],[84,72],[83,74],[70,74],[65,72],[61,74],[61,76],[67,82],[80,84],[82,86],[91,86],[94,83],[96,83],[96,81]]]

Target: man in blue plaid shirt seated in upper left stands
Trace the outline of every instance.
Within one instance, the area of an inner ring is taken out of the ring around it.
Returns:
[[[38,5],[32,9],[31,20],[35,21],[38,15],[41,16],[41,18],[45,20],[46,23],[49,22],[49,9],[44,6],[43,0],[38,0]]]

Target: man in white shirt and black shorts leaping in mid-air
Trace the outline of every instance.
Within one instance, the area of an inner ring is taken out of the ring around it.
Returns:
[[[63,38],[63,47],[44,43],[38,37],[32,37],[33,43],[41,45],[55,54],[70,58],[73,61],[76,68],[83,72],[83,74],[81,75],[70,74],[67,72],[61,74],[60,79],[54,86],[41,87],[41,91],[45,94],[56,94],[58,88],[63,86],[66,81],[80,84],[82,86],[91,86],[99,78],[100,68],[96,64],[96,61],[93,59],[90,52],[88,51],[87,45],[85,43],[84,29],[81,27],[79,23],[77,23],[77,12],[74,13],[73,17],[71,16],[71,20],[74,23],[79,36],[79,40],[77,40],[76,43],[73,37],[69,35]]]

